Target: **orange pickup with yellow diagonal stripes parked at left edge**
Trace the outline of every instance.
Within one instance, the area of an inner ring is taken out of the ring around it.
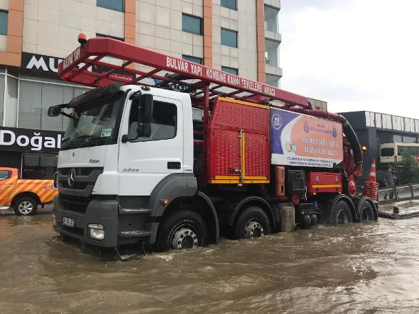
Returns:
[[[52,202],[58,193],[53,180],[19,179],[19,170],[0,167],[0,209],[13,207],[17,215],[34,215],[38,205]]]

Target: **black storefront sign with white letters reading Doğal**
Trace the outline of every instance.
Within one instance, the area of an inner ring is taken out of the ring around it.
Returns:
[[[62,137],[63,132],[0,127],[0,150],[57,152]]]

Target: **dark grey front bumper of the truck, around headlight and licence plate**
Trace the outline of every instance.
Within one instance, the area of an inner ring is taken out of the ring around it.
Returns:
[[[84,212],[70,211],[57,196],[54,201],[54,231],[76,238],[85,244],[96,247],[116,247],[118,245],[118,201],[91,200]],[[63,225],[63,217],[74,219],[74,227]],[[88,224],[103,224],[103,240],[88,237]]]

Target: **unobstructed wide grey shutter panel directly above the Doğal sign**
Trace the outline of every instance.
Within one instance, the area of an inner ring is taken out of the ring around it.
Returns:
[[[18,127],[41,129],[41,97],[42,83],[21,81]]]

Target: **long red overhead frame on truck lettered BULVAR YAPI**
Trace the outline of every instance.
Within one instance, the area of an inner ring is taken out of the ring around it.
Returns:
[[[122,60],[122,65],[101,61],[105,56]],[[137,70],[138,67],[132,69],[128,67],[131,64],[146,65],[152,70],[146,72]],[[98,67],[105,67],[107,71],[105,73],[92,71]],[[116,75],[119,71],[132,74],[132,77]],[[164,72],[175,75],[168,77],[164,75]],[[111,38],[92,38],[81,44],[59,63],[58,74],[65,81],[96,87],[109,85],[115,81],[123,85],[139,84],[146,78],[176,83],[190,87],[192,101],[195,104],[201,103],[201,107],[205,107],[205,94],[207,94],[207,99],[227,96],[253,103],[276,100],[282,101],[288,107],[309,107],[307,97]],[[194,82],[185,82],[183,81],[185,79],[194,80]],[[141,85],[150,84],[141,83]],[[209,87],[207,93],[205,93],[205,87]],[[232,90],[229,92],[219,90],[222,87],[229,87]]]

